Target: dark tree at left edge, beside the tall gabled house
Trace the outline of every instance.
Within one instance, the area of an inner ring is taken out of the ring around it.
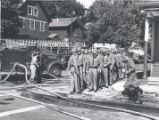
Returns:
[[[16,38],[21,26],[18,14],[20,0],[2,0],[1,35],[2,38]]]

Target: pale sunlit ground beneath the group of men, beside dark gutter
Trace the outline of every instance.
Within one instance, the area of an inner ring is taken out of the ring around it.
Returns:
[[[123,85],[125,81],[119,81],[109,88],[99,89],[97,92],[89,91],[88,89],[84,90],[81,94],[70,94],[68,85],[53,86],[53,87],[43,87],[44,89],[55,92],[60,95],[65,96],[68,99],[98,103],[98,104],[107,104],[107,105],[116,105],[116,106],[127,106],[127,107],[140,107],[146,109],[159,109],[159,90],[156,91],[156,86],[150,86],[145,83],[141,85],[141,88],[144,91],[143,104],[134,104],[127,100],[121,94],[123,90]],[[152,87],[153,89],[149,89]],[[154,90],[154,91],[153,91]],[[38,94],[50,98],[53,96],[50,93],[46,93],[42,90],[32,89],[30,90],[33,94]]]

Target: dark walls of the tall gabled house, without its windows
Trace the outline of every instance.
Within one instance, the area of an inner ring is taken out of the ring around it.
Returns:
[[[23,27],[20,28],[21,38],[30,38],[30,39],[46,39],[48,36],[49,26],[48,20],[41,9],[39,4],[35,5],[38,8],[38,17],[28,15],[27,11],[25,10],[25,16],[21,16],[20,19],[23,21]],[[28,7],[27,7],[28,9]],[[30,29],[30,20],[35,21],[35,30]],[[45,23],[45,31],[40,31],[40,22]]]

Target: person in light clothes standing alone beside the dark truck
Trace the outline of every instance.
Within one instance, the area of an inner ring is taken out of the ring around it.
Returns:
[[[36,51],[32,52],[31,55],[31,63],[30,63],[30,71],[31,71],[31,76],[30,76],[30,82],[33,83],[35,82],[35,78],[37,77],[37,68],[39,68],[39,62],[38,62],[38,55]]]

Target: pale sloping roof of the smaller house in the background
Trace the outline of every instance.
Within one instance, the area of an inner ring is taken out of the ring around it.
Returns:
[[[68,27],[76,20],[78,20],[77,17],[52,19],[52,22],[50,22],[49,27]]]

